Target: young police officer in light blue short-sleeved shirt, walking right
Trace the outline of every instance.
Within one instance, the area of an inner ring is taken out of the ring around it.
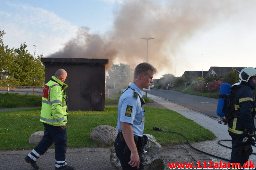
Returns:
[[[124,90],[118,102],[118,135],[114,146],[123,170],[143,170],[142,151],[138,147],[138,141],[143,136],[145,114],[141,90],[149,88],[154,73],[156,68],[151,64],[138,64],[134,70],[133,82]]]

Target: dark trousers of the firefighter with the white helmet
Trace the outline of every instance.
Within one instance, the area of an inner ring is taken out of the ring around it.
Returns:
[[[243,156],[243,157],[239,157],[238,153],[239,153],[239,149],[240,149],[240,142],[239,140],[241,140],[241,134],[234,134],[232,132],[229,132],[229,135],[232,138],[232,151],[231,151],[231,159],[230,159],[230,163],[240,163],[241,166],[244,166],[244,163],[246,163],[246,161],[248,161],[249,156]]]

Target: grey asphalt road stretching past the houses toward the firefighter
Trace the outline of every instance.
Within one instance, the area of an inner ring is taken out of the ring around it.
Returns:
[[[212,118],[219,118],[219,116],[216,114],[218,99],[195,96],[191,94],[184,94],[176,91],[162,89],[150,89],[148,93],[164,98],[173,103],[180,104],[189,109],[198,111]]]

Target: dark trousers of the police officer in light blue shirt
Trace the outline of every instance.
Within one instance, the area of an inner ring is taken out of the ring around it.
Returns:
[[[124,154],[124,148],[125,148],[125,141],[121,141],[120,137],[117,137],[114,143],[116,156],[120,160],[121,166],[123,170],[143,170],[144,166],[142,163],[144,163],[144,159],[142,157],[142,152],[139,152],[140,161],[140,168],[137,169],[137,167],[132,167],[128,162],[131,161],[131,152],[128,154]]]

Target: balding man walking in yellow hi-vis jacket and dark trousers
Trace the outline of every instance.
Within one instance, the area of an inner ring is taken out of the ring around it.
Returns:
[[[42,95],[42,110],[40,121],[44,124],[44,137],[38,145],[25,157],[26,162],[34,169],[39,169],[36,164],[39,156],[55,144],[55,169],[73,170],[66,163],[68,106],[64,83],[67,72],[58,69],[51,80],[45,84]]]

